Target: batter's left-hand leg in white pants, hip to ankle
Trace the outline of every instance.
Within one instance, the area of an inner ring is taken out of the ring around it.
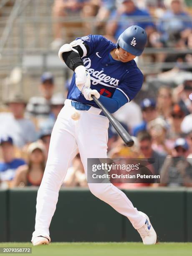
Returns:
[[[41,185],[38,189],[35,231],[33,238],[49,238],[49,225],[56,210],[58,192],[66,175],[68,165],[77,154],[74,134],[74,121],[70,109],[64,107],[58,115],[51,134],[48,160]]]

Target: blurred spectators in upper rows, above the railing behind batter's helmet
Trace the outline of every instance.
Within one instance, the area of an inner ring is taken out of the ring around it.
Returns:
[[[189,5],[189,6],[188,6]],[[52,49],[76,36],[93,32],[103,34],[116,43],[129,26],[138,25],[147,31],[148,47],[171,47],[181,50],[151,54],[150,61],[192,64],[192,6],[190,0],[55,0],[53,4]]]

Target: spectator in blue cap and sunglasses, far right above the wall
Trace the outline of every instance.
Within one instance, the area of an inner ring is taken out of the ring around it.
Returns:
[[[192,165],[186,158],[188,149],[184,138],[175,141],[172,154],[167,156],[162,166],[160,186],[192,187]]]

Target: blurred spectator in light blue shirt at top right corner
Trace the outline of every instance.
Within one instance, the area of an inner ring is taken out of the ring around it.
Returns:
[[[160,41],[164,46],[173,46],[177,34],[186,39],[192,32],[192,21],[184,11],[182,0],[169,1],[169,10],[162,16],[157,26]]]

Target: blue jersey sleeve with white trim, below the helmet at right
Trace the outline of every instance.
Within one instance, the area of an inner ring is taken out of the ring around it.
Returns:
[[[116,90],[121,91],[125,95],[127,102],[130,102],[141,90],[143,80],[144,77],[141,71],[135,70],[119,84]]]

